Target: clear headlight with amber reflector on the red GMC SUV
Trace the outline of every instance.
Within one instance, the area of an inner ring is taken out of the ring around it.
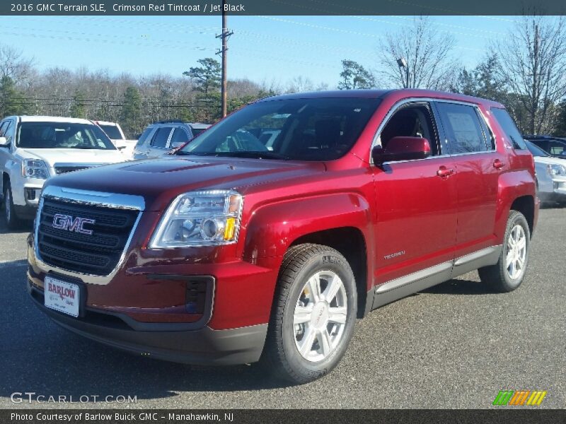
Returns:
[[[241,194],[231,190],[181,194],[161,218],[149,247],[163,249],[235,242],[242,200]]]

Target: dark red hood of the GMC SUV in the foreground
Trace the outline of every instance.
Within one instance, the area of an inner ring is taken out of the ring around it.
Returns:
[[[143,196],[146,210],[163,211],[173,197],[200,189],[236,189],[301,179],[325,171],[323,163],[172,156],[105,165],[59,175],[48,185]]]

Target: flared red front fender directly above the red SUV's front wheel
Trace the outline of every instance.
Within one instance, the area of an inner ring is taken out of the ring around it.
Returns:
[[[299,237],[313,232],[353,227],[373,246],[371,208],[357,193],[335,193],[276,201],[250,214],[246,225],[244,259],[282,257]]]

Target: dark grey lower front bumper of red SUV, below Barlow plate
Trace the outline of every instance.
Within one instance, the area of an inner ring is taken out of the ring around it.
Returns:
[[[257,362],[267,334],[267,324],[237,329],[214,330],[209,326],[186,330],[185,324],[137,323],[130,318],[86,308],[74,318],[43,305],[43,291],[28,281],[28,293],[35,305],[64,329],[108,346],[176,363],[195,365],[236,365]],[[147,331],[144,331],[146,326]]]

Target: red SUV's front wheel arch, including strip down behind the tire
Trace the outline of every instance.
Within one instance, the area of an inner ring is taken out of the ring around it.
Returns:
[[[354,193],[336,193],[279,201],[250,214],[244,235],[243,259],[261,264],[276,257],[279,266],[293,246],[314,243],[333,247],[352,267],[357,285],[358,315],[364,317],[372,290],[374,219],[369,203]]]

